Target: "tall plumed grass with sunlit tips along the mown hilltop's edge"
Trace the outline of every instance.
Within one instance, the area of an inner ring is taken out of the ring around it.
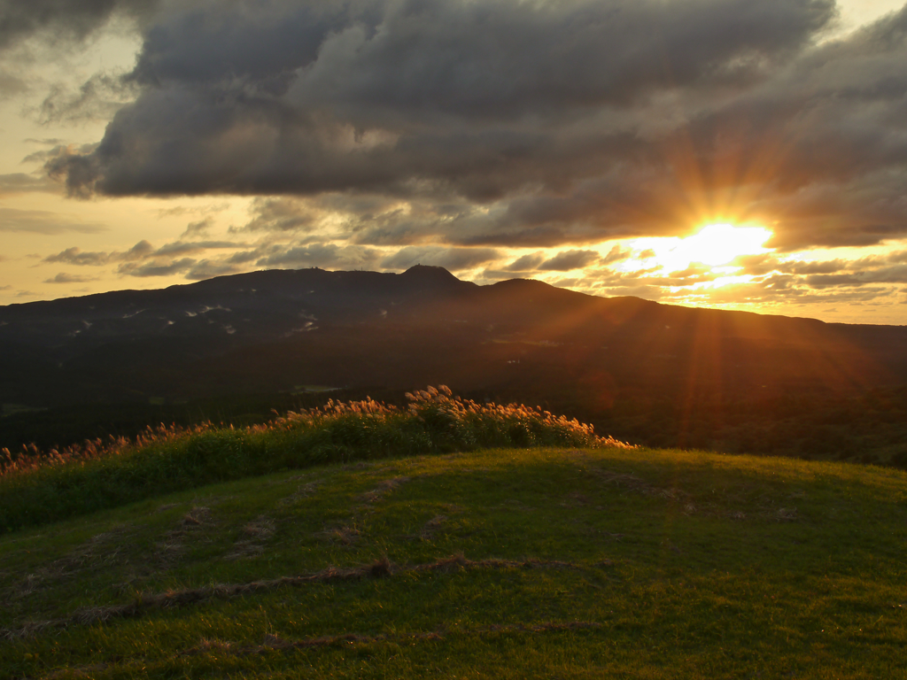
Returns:
[[[151,427],[134,440],[0,455],[0,532],[217,481],[318,463],[479,448],[629,447],[541,407],[476,403],[442,385],[406,393],[406,408],[334,402],[235,429]]]

